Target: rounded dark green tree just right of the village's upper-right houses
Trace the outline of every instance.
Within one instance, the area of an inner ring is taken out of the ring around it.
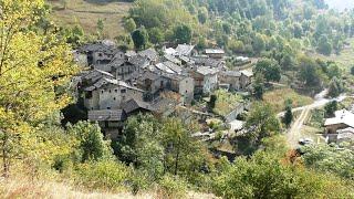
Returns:
[[[270,59],[262,59],[253,69],[254,73],[264,76],[266,81],[279,82],[281,78],[280,66],[277,61]]]

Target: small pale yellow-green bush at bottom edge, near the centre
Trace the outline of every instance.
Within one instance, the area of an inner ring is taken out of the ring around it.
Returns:
[[[178,177],[164,176],[159,181],[158,198],[186,198],[187,185]]]

